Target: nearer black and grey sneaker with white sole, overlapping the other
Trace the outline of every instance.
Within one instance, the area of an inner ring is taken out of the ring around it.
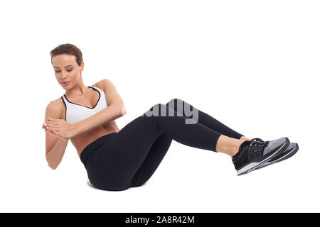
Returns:
[[[238,176],[245,175],[273,157],[277,157],[287,149],[289,144],[290,141],[287,137],[271,141],[257,138],[245,140],[240,145],[239,152],[232,157]]]

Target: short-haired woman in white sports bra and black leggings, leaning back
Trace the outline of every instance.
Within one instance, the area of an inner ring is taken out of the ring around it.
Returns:
[[[181,99],[155,104],[119,130],[114,120],[126,110],[110,79],[85,86],[82,53],[75,45],[59,45],[50,55],[65,94],[46,107],[46,160],[55,170],[70,139],[98,189],[141,186],[153,175],[172,140],[230,155],[238,175],[285,160],[299,149],[285,137],[245,138]]]

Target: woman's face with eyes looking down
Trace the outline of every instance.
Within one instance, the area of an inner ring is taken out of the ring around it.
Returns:
[[[53,70],[55,71],[55,79],[66,90],[78,84],[81,72],[84,68],[82,62],[79,66],[75,61],[75,55],[57,55],[52,59]],[[68,82],[64,84],[63,82]]]

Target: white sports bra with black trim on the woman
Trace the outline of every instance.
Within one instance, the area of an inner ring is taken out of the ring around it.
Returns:
[[[78,121],[82,121],[85,118],[88,118],[94,114],[97,114],[97,112],[102,111],[102,109],[107,108],[107,100],[105,99],[105,92],[102,91],[99,87],[96,87],[95,85],[88,86],[92,89],[95,89],[97,92],[99,92],[99,99],[97,101],[97,104],[95,106],[87,107],[80,104],[75,104],[72,101],[69,101],[65,94],[61,96],[61,99],[63,100],[63,104],[65,104],[65,121],[68,123],[77,123]]]

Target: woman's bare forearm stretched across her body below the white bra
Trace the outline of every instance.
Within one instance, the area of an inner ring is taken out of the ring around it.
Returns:
[[[95,128],[108,121],[113,121],[126,113],[124,106],[110,105],[106,109],[75,123],[76,135]]]

